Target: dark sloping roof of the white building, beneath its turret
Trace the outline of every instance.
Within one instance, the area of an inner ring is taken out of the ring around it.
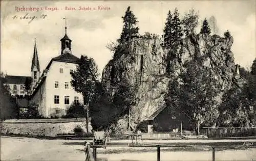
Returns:
[[[63,53],[62,55],[53,58],[50,63],[47,65],[46,69],[49,69],[52,61],[56,61],[56,62],[65,62],[65,63],[77,63],[77,61],[79,60],[79,58],[77,58],[76,56],[72,55],[72,53]]]

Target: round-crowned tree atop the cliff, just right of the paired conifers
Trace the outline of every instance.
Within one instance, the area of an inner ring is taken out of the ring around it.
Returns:
[[[186,35],[195,33],[198,25],[198,18],[198,12],[196,13],[194,9],[191,9],[188,13],[185,13],[185,16],[182,19],[182,24],[184,28],[184,33]]]

